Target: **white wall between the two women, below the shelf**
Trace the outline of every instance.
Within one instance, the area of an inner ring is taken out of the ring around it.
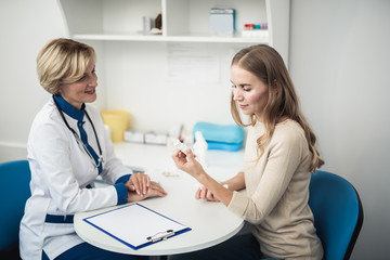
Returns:
[[[167,79],[168,53],[172,49],[185,53],[190,49],[206,58],[214,57],[221,70],[218,82],[199,77]],[[191,126],[198,120],[234,123],[229,80],[232,50],[233,46],[222,43],[105,43],[104,64],[109,75],[104,82],[108,90],[107,107],[129,110],[134,127],[146,131],[169,131],[174,125]]]

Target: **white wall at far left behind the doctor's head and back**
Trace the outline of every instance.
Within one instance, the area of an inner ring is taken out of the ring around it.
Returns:
[[[66,28],[56,1],[0,1],[0,161],[26,158],[34,116],[49,94],[36,76],[36,56]]]

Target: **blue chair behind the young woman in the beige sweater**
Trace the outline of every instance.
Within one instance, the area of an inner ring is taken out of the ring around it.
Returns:
[[[343,178],[312,173],[309,205],[326,260],[349,259],[363,225],[363,207],[356,190]]]

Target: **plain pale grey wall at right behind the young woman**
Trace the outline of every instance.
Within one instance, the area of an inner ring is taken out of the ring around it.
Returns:
[[[324,170],[360,192],[364,224],[352,259],[388,259],[390,1],[295,1],[290,73],[320,140]]]

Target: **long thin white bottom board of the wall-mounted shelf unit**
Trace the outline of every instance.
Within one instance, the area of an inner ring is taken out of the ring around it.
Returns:
[[[103,40],[103,41],[161,41],[161,42],[223,42],[223,43],[268,43],[268,31],[263,37],[240,36],[162,36],[162,35],[138,35],[138,34],[79,34],[73,38],[78,40]]]

